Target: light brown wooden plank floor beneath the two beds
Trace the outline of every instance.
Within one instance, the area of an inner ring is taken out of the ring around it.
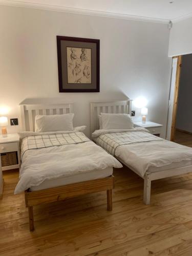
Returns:
[[[116,169],[113,211],[106,193],[34,207],[28,227],[24,194],[13,195],[18,172],[4,172],[0,255],[192,255],[192,174],[152,182],[144,205],[143,180]]]

